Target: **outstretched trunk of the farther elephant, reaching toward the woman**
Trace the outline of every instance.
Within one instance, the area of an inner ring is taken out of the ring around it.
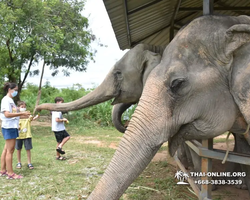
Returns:
[[[45,103],[41,104],[36,107],[36,111],[40,110],[53,110],[53,111],[72,111],[72,110],[79,110],[82,108],[86,108],[92,105],[96,105],[112,99],[119,95],[119,89],[117,89],[114,84],[114,78],[111,72],[106,76],[104,81],[99,85],[94,91],[90,92],[89,94],[83,96],[80,99],[69,103],[60,103],[60,104],[53,104],[53,103]]]

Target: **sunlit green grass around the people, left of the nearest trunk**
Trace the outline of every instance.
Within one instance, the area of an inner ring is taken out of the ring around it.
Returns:
[[[110,128],[94,128],[79,131],[68,127],[71,139],[65,145],[66,161],[55,159],[56,140],[50,127],[32,127],[33,170],[27,167],[26,151],[22,150],[22,169],[15,172],[24,176],[21,180],[0,182],[0,199],[84,199],[93,189],[107,167],[115,149],[109,148],[110,141],[117,144],[120,134]],[[100,140],[99,145],[84,143]],[[4,140],[1,136],[0,147]],[[17,163],[16,152],[13,167]]]

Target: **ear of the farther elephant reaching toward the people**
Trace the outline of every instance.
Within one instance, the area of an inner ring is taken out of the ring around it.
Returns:
[[[142,74],[142,82],[145,85],[148,75],[161,61],[161,55],[149,50],[143,51],[141,64],[138,65],[138,70]]]

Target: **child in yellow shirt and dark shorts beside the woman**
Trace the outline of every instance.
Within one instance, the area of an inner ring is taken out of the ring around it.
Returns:
[[[24,101],[18,102],[18,107],[20,112],[26,111],[26,103]],[[30,150],[32,147],[32,135],[31,135],[31,128],[30,123],[32,120],[36,120],[39,116],[29,117],[29,118],[20,118],[19,120],[19,137],[16,138],[16,150],[17,150],[17,169],[22,168],[21,164],[21,150],[22,146],[24,144],[24,147],[27,152],[27,158],[28,158],[28,168],[33,169],[34,166],[31,164],[31,152]]]

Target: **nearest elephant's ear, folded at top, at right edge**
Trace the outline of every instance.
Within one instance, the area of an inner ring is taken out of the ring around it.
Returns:
[[[226,56],[233,58],[230,90],[246,122],[250,124],[250,25],[234,25],[226,32]]]

